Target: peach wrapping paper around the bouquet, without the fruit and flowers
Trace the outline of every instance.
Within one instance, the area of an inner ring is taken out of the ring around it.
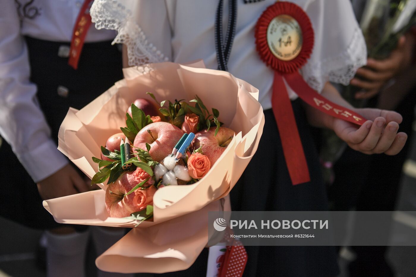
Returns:
[[[96,264],[109,272],[171,272],[192,265],[208,242],[208,211],[229,209],[228,195],[257,150],[264,126],[258,89],[228,72],[206,69],[203,62],[171,62],[130,67],[124,79],[81,110],[69,109],[59,129],[58,149],[89,178],[98,171],[92,156],[125,126],[125,111],[137,98],[158,101],[201,97],[219,120],[236,132],[223,155],[200,181],[167,186],[154,195],[153,222],[144,221],[110,247]],[[106,186],[77,195],[45,200],[59,223],[133,228],[136,221],[110,218],[104,203]],[[186,232],[183,232],[186,230]]]

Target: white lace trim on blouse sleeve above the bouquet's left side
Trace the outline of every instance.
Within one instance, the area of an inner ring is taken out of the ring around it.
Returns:
[[[127,2],[131,4],[131,2]],[[161,51],[149,43],[140,26],[135,22],[131,10],[121,0],[95,0],[90,10],[92,22],[97,29],[118,32],[112,44],[127,46],[129,65],[141,66],[169,60]]]

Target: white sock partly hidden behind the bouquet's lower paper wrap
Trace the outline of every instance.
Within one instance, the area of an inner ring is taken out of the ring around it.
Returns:
[[[109,249],[114,243],[124,237],[126,233],[125,228],[103,228],[100,226],[92,226],[92,239],[95,245],[97,255],[101,255]],[[97,268],[97,277],[133,277],[133,273],[123,274],[114,272],[105,272]]]

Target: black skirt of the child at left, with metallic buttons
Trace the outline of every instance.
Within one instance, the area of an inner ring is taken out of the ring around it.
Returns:
[[[69,107],[81,109],[123,78],[121,52],[111,41],[86,43],[78,69],[68,65],[68,59],[58,57],[61,45],[26,37],[31,77],[37,85],[37,99],[57,142],[59,126]],[[68,89],[67,97],[57,93],[59,86]],[[0,147],[0,216],[30,228],[50,229],[59,226],[43,208],[36,184],[17,160],[4,140]],[[36,161],[34,161],[36,162]],[[79,225],[80,228],[85,228]]]

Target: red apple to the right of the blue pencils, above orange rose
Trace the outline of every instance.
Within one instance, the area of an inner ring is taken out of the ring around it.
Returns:
[[[234,136],[234,131],[225,127],[220,127],[217,135],[214,136],[214,134],[215,128],[211,127],[209,131],[203,130],[196,133],[195,139],[193,140],[193,147],[195,149],[202,145],[201,150],[211,162],[211,167],[225,151],[225,148],[227,148],[228,143],[230,143]]]

